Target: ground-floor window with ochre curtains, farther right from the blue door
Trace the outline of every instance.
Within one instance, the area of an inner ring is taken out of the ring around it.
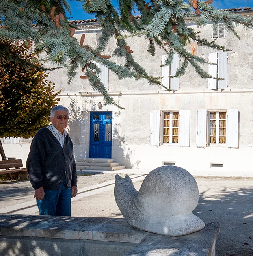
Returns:
[[[226,111],[209,112],[209,145],[226,144]]]

